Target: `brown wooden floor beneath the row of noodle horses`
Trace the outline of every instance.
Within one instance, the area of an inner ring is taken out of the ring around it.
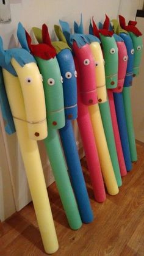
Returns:
[[[54,255],[144,255],[144,145],[137,143],[137,150],[139,161],[123,178],[120,193],[107,195],[104,203],[96,203],[93,199],[87,164],[82,159],[95,220],[82,225],[80,230],[68,227],[55,183],[48,188],[59,239],[59,251]],[[0,224],[0,255],[46,255],[32,203]]]

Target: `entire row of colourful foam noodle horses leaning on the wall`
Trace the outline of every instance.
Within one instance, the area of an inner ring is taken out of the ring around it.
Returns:
[[[51,42],[45,24],[42,30],[33,27],[30,36],[19,23],[22,48],[4,50],[0,40],[5,131],[16,130],[48,253],[59,246],[37,141],[44,139],[71,229],[93,221],[71,120],[77,119],[96,201],[106,199],[104,183],[116,195],[121,177],[137,160],[129,88],[139,73],[142,34],[135,21],[126,26],[122,16],[120,24],[112,23],[107,16],[98,27],[92,20],[90,34],[84,34],[81,18],[71,34],[68,23],[60,21],[62,29],[54,26],[56,42]]]

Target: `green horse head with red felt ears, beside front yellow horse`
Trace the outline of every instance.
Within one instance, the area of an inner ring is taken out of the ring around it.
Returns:
[[[32,33],[34,33],[38,44],[32,45],[31,37],[26,32],[27,43],[43,76],[48,128],[59,129],[65,125],[65,113],[63,78],[56,59],[56,49],[52,46],[48,28],[45,24],[43,24],[42,32],[35,27],[32,29]]]

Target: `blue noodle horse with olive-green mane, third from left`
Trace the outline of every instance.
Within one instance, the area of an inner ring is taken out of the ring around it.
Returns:
[[[41,32],[42,43],[49,43],[48,27],[46,24],[43,24],[42,31],[36,27],[33,31],[35,32],[35,35],[38,32]],[[38,38],[40,39],[40,33]],[[63,152],[67,161],[68,172],[71,178],[82,222],[89,223],[93,221],[93,213],[92,208],[90,207],[90,201],[87,194],[87,188],[85,186],[84,176],[82,174],[81,163],[71,124],[71,119],[76,119],[77,117],[76,70],[74,60],[66,40],[65,42],[52,42],[52,46],[54,46],[57,51],[56,57],[63,77],[65,126],[59,129],[60,139],[62,141]]]

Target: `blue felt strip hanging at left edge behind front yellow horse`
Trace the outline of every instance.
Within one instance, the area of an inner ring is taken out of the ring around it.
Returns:
[[[0,68],[0,104],[2,117],[5,120],[5,131],[8,134],[15,133],[15,125],[13,123],[12,112],[10,110],[7,93],[5,91],[4,79],[2,76],[2,69]]]

